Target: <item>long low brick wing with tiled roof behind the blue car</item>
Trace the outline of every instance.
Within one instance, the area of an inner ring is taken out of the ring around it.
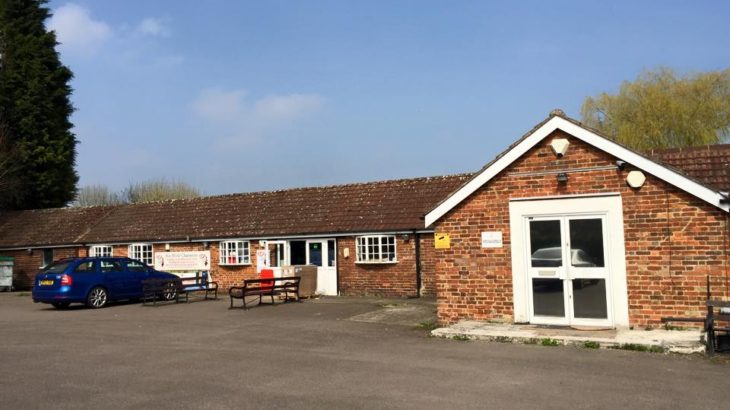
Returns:
[[[261,263],[318,266],[318,293],[419,296],[435,292],[433,230],[423,215],[470,175],[211,196],[110,207],[0,215],[0,256],[15,258],[14,284],[70,256],[129,256],[149,265],[164,252],[209,251],[227,288]],[[257,251],[265,251],[257,260]]]

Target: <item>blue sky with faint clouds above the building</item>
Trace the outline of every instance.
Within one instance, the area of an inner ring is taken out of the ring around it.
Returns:
[[[80,186],[472,172],[554,108],[730,68],[725,1],[51,1]]]

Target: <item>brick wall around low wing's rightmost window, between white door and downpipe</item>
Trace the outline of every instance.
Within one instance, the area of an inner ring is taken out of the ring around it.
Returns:
[[[345,249],[350,256],[345,258]],[[404,297],[416,295],[416,248],[413,235],[396,235],[397,263],[355,263],[355,237],[337,239],[337,270],[342,295]]]

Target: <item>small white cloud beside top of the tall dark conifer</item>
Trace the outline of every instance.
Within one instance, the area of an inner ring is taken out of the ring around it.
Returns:
[[[82,55],[96,52],[113,34],[108,24],[94,20],[89,10],[74,3],[57,8],[48,28],[56,32],[64,50]]]

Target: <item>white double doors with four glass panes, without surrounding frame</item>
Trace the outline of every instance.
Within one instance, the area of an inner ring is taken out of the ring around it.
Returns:
[[[531,323],[612,326],[606,216],[526,217]]]

